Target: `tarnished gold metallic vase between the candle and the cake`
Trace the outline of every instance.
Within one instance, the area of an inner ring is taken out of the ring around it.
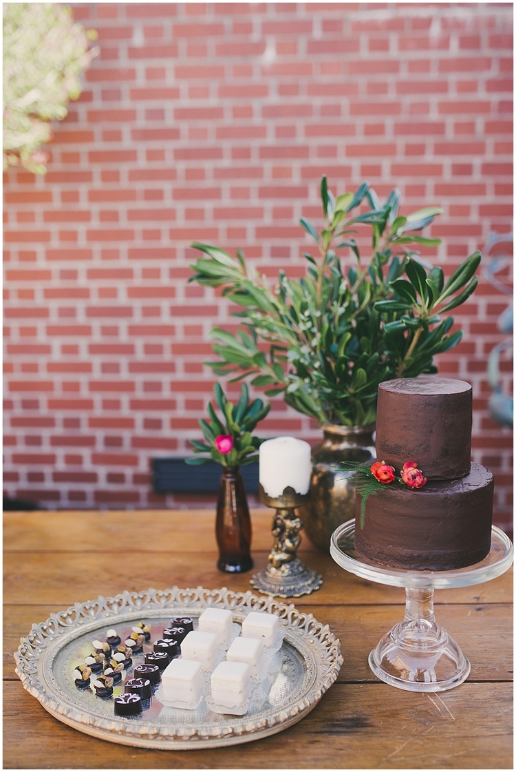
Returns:
[[[342,469],[342,462],[375,458],[375,425],[322,424],[321,428],[323,440],[312,450],[310,499],[298,513],[314,547],[329,552],[333,531],[355,517],[355,472]]]

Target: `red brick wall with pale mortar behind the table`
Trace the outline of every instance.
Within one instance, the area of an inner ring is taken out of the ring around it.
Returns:
[[[187,284],[189,243],[298,273],[322,174],[338,193],[396,186],[403,212],[442,205],[446,273],[511,232],[512,5],[73,9],[100,56],[46,177],[5,177],[5,491],[49,508],[186,506],[151,493],[149,462],[189,455],[214,382],[208,333],[230,318]],[[483,272],[439,362],[474,386],[474,460],[495,473],[501,524],[512,435],[487,414],[486,367],[508,300]],[[261,433],[319,437],[282,401]]]

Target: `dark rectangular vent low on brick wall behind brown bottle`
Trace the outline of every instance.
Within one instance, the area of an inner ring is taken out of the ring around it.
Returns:
[[[184,459],[151,459],[154,493],[217,493],[222,467],[214,461],[191,466]],[[241,466],[248,493],[258,493],[258,463]]]

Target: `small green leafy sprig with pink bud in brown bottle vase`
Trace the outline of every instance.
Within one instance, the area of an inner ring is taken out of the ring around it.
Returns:
[[[211,402],[207,405],[209,420],[199,420],[204,442],[190,440],[194,453],[199,455],[184,460],[187,464],[204,464],[213,459],[222,466],[245,466],[258,461],[257,451],[265,440],[254,437],[251,432],[268,414],[271,405],[264,405],[261,399],[249,401],[247,384],[241,384],[237,405],[228,401],[221,384],[214,385],[214,394],[216,405]]]

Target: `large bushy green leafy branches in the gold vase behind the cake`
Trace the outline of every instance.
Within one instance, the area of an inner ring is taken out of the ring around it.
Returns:
[[[335,197],[321,181],[324,224],[318,231],[302,218],[317,256],[305,252],[302,279],[280,271],[271,288],[264,276],[218,247],[194,243],[201,252],[190,280],[223,288],[238,310],[236,336],[212,330],[219,361],[215,374],[282,394],[295,410],[342,425],[367,425],[376,419],[376,391],[381,381],[435,373],[433,357],[457,345],[461,332],[450,332],[445,317],[477,286],[481,260],[474,252],[445,279],[440,267],[418,259],[418,245],[436,246],[420,231],[441,209],[430,206],[401,215],[400,193],[385,203],[364,183],[354,193]],[[364,205],[365,211],[356,212]],[[364,261],[355,233],[369,227],[371,256]],[[353,265],[345,271],[344,251]]]

